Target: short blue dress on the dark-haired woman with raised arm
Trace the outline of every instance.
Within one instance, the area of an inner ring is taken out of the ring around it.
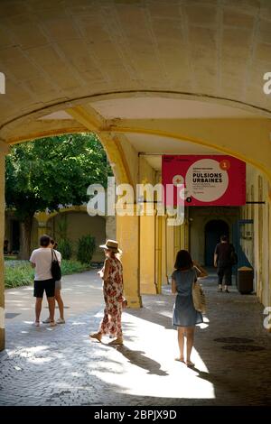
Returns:
[[[174,271],[172,278],[176,281],[177,296],[173,306],[173,326],[193,327],[201,324],[203,318],[201,312],[194,309],[192,299],[192,286],[197,280],[194,268],[185,271]]]

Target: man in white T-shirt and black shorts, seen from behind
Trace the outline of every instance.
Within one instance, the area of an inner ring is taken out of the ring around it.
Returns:
[[[35,313],[36,320],[34,325],[40,327],[40,315],[42,311],[42,298],[45,290],[50,313],[50,325],[54,327],[54,290],[55,281],[51,277],[51,238],[49,235],[42,235],[40,238],[40,248],[33,250],[30,257],[30,262],[35,269],[34,291],[33,295],[36,298]]]

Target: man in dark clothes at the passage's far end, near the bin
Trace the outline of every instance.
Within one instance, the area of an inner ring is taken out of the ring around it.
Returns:
[[[219,276],[219,291],[222,291],[222,284],[224,278],[224,290],[229,293],[228,286],[231,286],[231,273],[232,273],[232,253],[234,247],[229,244],[227,235],[221,235],[220,243],[216,245],[214,252],[214,266],[218,267]]]

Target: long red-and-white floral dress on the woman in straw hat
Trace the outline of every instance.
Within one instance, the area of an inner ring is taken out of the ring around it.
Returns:
[[[106,308],[98,331],[103,335],[121,337],[121,313],[124,300],[122,263],[116,257],[108,258],[107,261],[109,262],[108,278],[103,284]]]

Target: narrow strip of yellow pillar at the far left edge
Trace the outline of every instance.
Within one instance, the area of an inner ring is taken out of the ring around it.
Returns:
[[[0,141],[0,351],[5,349],[5,154],[8,152],[9,146]]]

